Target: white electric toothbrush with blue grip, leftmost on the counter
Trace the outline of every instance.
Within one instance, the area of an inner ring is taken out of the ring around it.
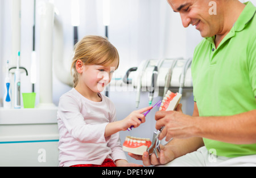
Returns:
[[[5,78],[5,96],[3,101],[3,108],[11,109],[11,79],[9,75],[9,60],[7,60],[6,66],[6,78]]]

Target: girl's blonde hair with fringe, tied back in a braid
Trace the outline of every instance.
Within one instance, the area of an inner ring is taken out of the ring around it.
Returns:
[[[79,75],[76,70],[77,60],[81,60],[84,65],[101,66],[109,66],[115,60],[118,60],[117,68],[119,66],[119,54],[117,49],[108,39],[101,36],[85,36],[75,45],[75,53],[71,65],[74,87],[76,87],[79,82]]]

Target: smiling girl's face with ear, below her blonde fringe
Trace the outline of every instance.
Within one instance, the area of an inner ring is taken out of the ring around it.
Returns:
[[[117,60],[108,66],[84,65],[81,60],[77,60],[77,71],[81,74],[79,84],[90,92],[102,92],[110,83],[117,65]]]

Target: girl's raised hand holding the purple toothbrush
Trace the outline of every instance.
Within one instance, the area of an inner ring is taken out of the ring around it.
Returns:
[[[121,120],[121,129],[125,131],[130,128],[130,126],[137,128],[139,125],[145,122],[145,116],[142,113],[148,111],[149,109],[152,109],[152,107],[146,107],[131,112],[129,116]]]

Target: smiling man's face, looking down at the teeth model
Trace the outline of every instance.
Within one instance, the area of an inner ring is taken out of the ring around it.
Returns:
[[[202,37],[214,36],[220,31],[221,18],[218,19],[218,11],[217,15],[209,13],[212,7],[209,0],[167,1],[175,12],[180,13],[185,28],[192,24],[200,31]]]

